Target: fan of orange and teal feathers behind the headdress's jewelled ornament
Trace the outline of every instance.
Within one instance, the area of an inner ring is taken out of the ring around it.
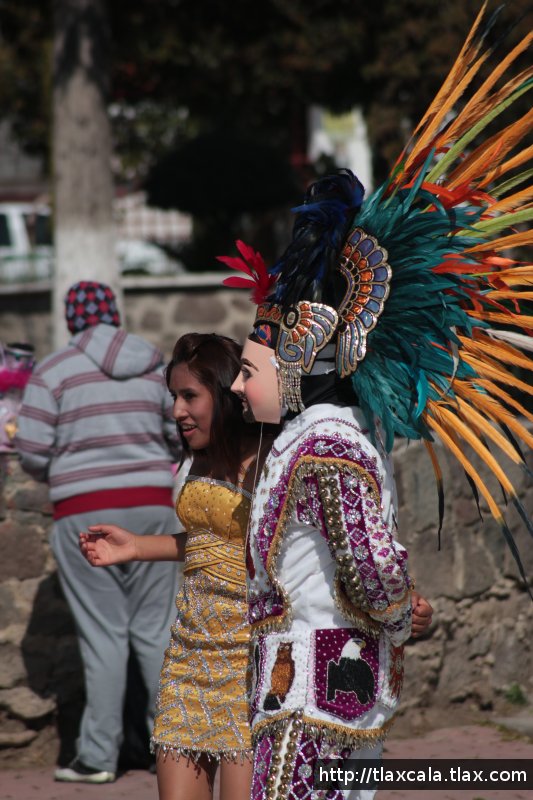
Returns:
[[[533,265],[525,250],[533,245],[533,147],[520,149],[533,112],[483,138],[533,89],[533,67],[509,76],[533,34],[503,56],[493,53],[486,32],[495,16],[486,22],[486,7],[389,179],[353,220],[386,248],[392,268],[389,297],[353,384],[367,417],[381,419],[388,448],[395,435],[427,443],[440,525],[442,478],[431,442],[440,439],[455,456],[525,580],[502,511],[469,455],[484,462],[533,535],[500,464],[503,457],[526,470],[520,443],[533,444],[525,424],[533,415],[513,396],[533,395],[531,381],[513,371],[533,371]]]

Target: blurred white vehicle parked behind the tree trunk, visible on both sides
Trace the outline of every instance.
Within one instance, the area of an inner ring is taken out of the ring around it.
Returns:
[[[153,242],[121,239],[117,257],[122,274],[178,275],[183,266]],[[52,277],[52,217],[46,205],[0,203],[0,283]]]

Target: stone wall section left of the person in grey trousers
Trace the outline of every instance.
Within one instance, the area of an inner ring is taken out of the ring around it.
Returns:
[[[48,547],[47,487],[28,478],[16,456],[0,463],[0,763],[49,763],[58,751],[57,709],[79,702],[81,664]]]

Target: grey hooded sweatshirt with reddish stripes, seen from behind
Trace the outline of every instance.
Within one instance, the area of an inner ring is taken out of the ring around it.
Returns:
[[[22,467],[48,482],[53,502],[172,487],[180,445],[163,356],[120,328],[95,325],[45,358],[26,387],[18,422]]]

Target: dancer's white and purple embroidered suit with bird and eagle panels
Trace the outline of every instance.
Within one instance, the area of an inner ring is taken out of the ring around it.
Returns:
[[[319,403],[286,423],[250,525],[254,798],[290,730],[313,758],[333,757],[374,748],[391,724],[411,626],[394,507],[390,465],[358,409]],[[313,759],[283,752],[280,770],[312,785]]]

